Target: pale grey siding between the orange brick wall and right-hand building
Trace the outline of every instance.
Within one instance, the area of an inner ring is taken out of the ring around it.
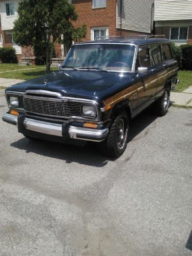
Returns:
[[[122,0],[122,29],[151,33],[154,0]],[[117,0],[117,28],[121,27],[121,0]]]

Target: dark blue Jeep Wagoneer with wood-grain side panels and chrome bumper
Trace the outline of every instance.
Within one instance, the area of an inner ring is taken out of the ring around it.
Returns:
[[[123,154],[130,119],[149,105],[163,116],[178,83],[167,39],[108,37],[74,44],[58,72],[6,89],[3,121],[28,139],[84,145]]]

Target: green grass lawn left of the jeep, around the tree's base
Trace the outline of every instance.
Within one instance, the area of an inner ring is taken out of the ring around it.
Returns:
[[[15,70],[15,71],[14,71]],[[18,64],[0,63],[0,77],[28,80],[46,74],[45,66],[19,66]],[[51,71],[57,71],[57,67],[51,68]]]

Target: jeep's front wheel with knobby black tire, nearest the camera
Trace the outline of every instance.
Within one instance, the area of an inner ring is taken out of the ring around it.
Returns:
[[[121,156],[127,146],[129,117],[125,111],[111,124],[107,138],[99,143],[99,149],[109,157]]]

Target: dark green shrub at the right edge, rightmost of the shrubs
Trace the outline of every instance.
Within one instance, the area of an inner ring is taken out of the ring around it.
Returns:
[[[181,45],[182,51],[182,68],[192,70],[192,45]]]

